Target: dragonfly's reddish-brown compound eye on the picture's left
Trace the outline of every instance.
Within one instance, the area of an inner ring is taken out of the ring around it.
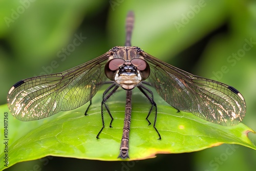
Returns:
[[[106,65],[105,65],[105,75],[108,77],[110,80],[114,81],[115,80],[115,74],[116,71],[123,65],[125,62],[124,59],[121,58],[114,58],[109,60]]]

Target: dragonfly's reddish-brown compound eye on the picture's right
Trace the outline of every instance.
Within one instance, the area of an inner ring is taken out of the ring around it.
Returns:
[[[131,60],[131,63],[133,63],[134,66],[137,67],[137,70],[141,73],[142,80],[145,80],[150,76],[150,65],[148,63],[140,58],[134,58]]]

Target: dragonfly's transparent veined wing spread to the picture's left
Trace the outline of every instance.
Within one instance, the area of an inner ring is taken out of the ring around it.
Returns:
[[[30,121],[85,104],[107,79],[104,67],[109,53],[62,73],[17,82],[7,96],[11,113],[19,120]]]

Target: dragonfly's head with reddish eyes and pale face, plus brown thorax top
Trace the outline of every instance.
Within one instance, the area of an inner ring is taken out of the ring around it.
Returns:
[[[105,74],[124,90],[132,90],[150,75],[150,66],[138,47],[115,47],[115,55],[105,65]],[[116,58],[120,57],[120,58]],[[123,59],[125,58],[125,60]]]

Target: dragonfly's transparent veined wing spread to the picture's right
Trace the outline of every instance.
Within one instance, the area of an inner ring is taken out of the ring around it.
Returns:
[[[226,126],[244,118],[245,100],[233,87],[192,75],[146,53],[144,58],[151,68],[146,81],[174,108]]]

